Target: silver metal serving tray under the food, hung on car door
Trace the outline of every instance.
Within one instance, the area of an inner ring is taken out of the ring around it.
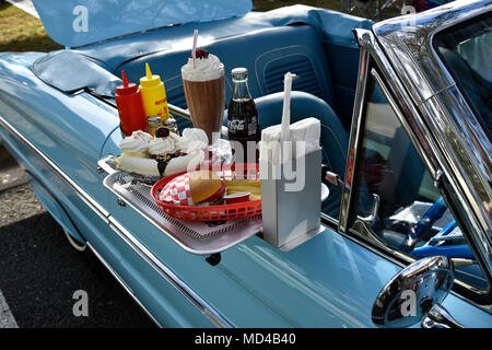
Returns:
[[[98,163],[109,174],[103,180],[104,186],[186,252],[198,255],[220,253],[261,232],[261,215],[219,223],[174,219],[153,201],[150,185],[131,174],[107,167],[107,164],[104,166],[104,160]]]

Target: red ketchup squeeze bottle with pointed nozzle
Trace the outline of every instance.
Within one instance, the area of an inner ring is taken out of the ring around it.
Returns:
[[[131,136],[133,131],[147,129],[147,116],[142,96],[137,84],[128,83],[125,71],[121,71],[122,85],[116,88],[116,106],[118,107],[121,131]]]

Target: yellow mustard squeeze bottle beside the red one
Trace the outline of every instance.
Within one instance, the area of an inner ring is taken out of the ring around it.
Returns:
[[[161,120],[169,117],[166,91],[161,77],[152,74],[149,63],[145,62],[145,77],[140,78],[140,93],[142,94],[143,109],[147,117],[160,116]]]

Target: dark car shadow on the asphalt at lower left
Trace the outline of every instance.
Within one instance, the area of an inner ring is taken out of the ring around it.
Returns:
[[[21,328],[154,327],[90,253],[79,253],[42,213],[0,228],[0,290]],[[89,316],[75,317],[77,290],[89,295]]]

